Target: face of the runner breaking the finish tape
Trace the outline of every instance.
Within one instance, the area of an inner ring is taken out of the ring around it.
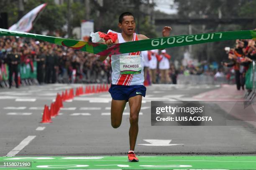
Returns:
[[[125,35],[131,36],[133,35],[133,32],[135,31],[135,20],[133,16],[124,16],[123,22],[118,24],[119,28],[122,30]]]

